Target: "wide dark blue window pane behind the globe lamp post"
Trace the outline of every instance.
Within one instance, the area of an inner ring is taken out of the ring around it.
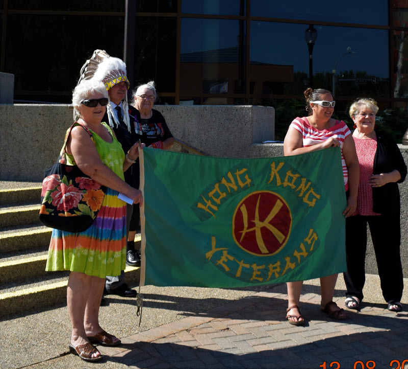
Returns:
[[[252,21],[250,78],[259,96],[302,95],[310,84],[308,25]],[[314,26],[313,87],[335,89],[336,97],[389,96],[388,31]],[[268,37],[263,37],[267,34]],[[333,72],[335,70],[335,72]]]

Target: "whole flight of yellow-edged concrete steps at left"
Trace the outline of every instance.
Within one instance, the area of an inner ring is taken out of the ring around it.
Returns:
[[[38,221],[40,197],[41,183],[0,181],[0,319],[66,304],[69,271],[45,271],[52,228]],[[126,283],[139,280],[140,268],[126,266]]]

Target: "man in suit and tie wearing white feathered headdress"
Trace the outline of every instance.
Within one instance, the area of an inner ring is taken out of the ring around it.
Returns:
[[[95,51],[95,53],[96,52],[98,51]],[[122,145],[123,151],[127,152],[132,145],[139,140],[140,136],[138,135],[139,125],[138,123],[135,124],[134,119],[136,116],[136,111],[134,110],[136,109],[127,104],[127,89],[129,89],[130,83],[126,77],[126,65],[121,59],[110,57],[106,54],[97,65],[92,78],[103,82],[108,91],[109,103],[102,121],[112,127],[116,138]],[[126,159],[131,161],[127,157]],[[132,169],[132,167],[130,169]],[[124,173],[125,181],[130,184],[130,186],[133,186],[134,182],[137,181],[136,178],[133,178],[132,172],[132,170],[127,170]],[[133,206],[128,204],[126,207],[127,232],[129,232],[132,209]],[[134,249],[134,245],[132,249],[129,242],[126,247],[126,264],[140,266],[140,258]],[[130,289],[124,283],[123,271],[118,277],[108,276],[105,287],[108,293],[124,297],[135,297],[137,295],[135,290]],[[103,302],[101,304],[103,304]]]

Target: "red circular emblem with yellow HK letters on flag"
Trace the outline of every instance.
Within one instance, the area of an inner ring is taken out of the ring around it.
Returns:
[[[271,191],[252,192],[237,205],[233,236],[239,247],[258,256],[281,251],[289,239],[292,215],[282,196]]]

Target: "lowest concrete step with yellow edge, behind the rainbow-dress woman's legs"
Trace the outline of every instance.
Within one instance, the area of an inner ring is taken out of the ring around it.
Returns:
[[[69,272],[48,272],[35,283],[7,284],[0,289],[0,319],[15,313],[53,308],[66,304]],[[139,285],[140,268],[126,266],[125,281],[130,287]],[[3,282],[3,281],[2,281]],[[32,281],[31,281],[32,282]],[[109,297],[109,295],[108,295]]]

